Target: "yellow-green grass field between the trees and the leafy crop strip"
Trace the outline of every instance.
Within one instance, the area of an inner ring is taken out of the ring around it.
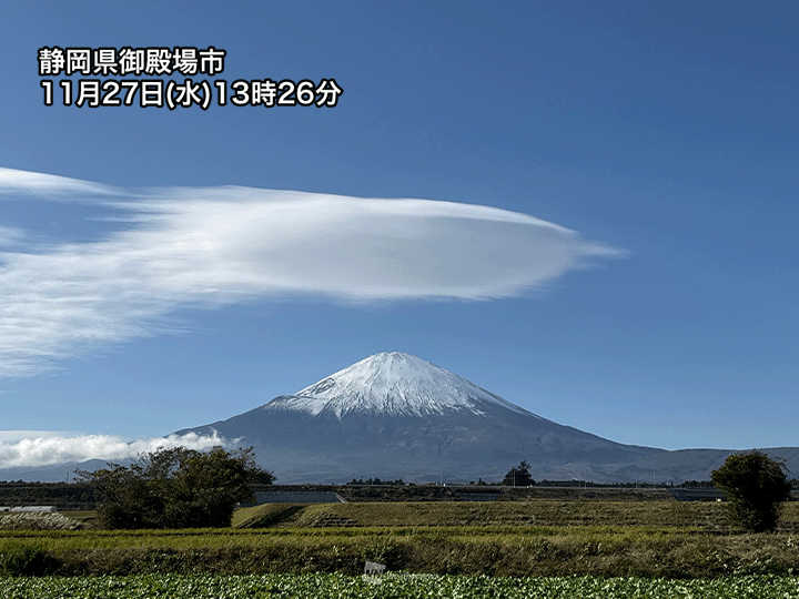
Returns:
[[[776,534],[744,535],[720,504],[271,505],[237,528],[0,532],[0,571],[357,575],[365,560],[435,575],[714,579],[799,573],[799,505]],[[261,528],[253,528],[261,527]]]

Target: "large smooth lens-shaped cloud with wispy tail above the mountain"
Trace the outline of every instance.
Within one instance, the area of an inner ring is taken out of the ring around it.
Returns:
[[[296,295],[502,298],[621,254],[526,214],[454,202],[234,186],[129,191],[0,169],[3,194],[91,196],[123,211],[127,226],[99,241],[0,252],[0,376],[158,333],[184,306]],[[6,235],[24,238],[13,227]]]

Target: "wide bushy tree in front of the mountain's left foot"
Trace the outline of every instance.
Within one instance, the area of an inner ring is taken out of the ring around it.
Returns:
[[[128,467],[109,464],[77,475],[101,498],[101,524],[129,529],[230,526],[236,502],[254,499],[250,485],[274,480],[255,464],[252,448],[222,447],[158,449]]]

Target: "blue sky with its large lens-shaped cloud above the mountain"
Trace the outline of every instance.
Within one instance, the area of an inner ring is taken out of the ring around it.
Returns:
[[[0,463],[227,418],[384,351],[621,443],[799,445],[797,19],[3,3]],[[48,106],[44,47],[215,47],[195,80],[343,93],[92,109],[57,83]]]

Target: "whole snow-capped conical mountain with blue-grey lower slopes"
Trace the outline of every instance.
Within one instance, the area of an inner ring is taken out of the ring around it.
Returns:
[[[670,454],[559,425],[402,353],[370,356],[293,395],[178,434],[189,432],[253,446],[283,484],[496,480],[522,459],[537,479],[651,480],[650,464]]]

